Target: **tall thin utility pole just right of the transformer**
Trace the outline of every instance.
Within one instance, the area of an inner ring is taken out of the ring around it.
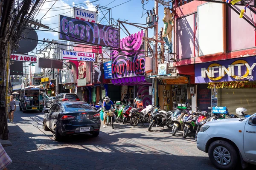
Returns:
[[[154,2],[154,10],[155,10],[155,14],[158,16],[158,2],[157,0],[155,0]],[[157,22],[154,23],[154,39],[158,40],[158,20]],[[155,55],[153,58],[153,73],[157,74],[157,41],[155,41],[155,45],[154,45],[154,51],[155,51]],[[152,105],[157,105],[157,79],[153,79],[152,82]]]

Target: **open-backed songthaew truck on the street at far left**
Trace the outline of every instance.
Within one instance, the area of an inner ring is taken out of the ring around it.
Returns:
[[[44,99],[47,97],[45,89],[33,86],[20,91],[20,111],[40,111],[44,109]]]

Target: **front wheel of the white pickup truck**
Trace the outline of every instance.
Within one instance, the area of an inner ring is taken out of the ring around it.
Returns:
[[[229,142],[222,140],[210,144],[208,156],[212,164],[221,170],[233,170],[239,162],[236,149]]]

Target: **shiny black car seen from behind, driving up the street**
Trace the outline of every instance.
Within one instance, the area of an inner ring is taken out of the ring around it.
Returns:
[[[99,113],[87,102],[56,102],[44,113],[44,130],[52,130],[55,141],[60,141],[66,135],[99,135]]]

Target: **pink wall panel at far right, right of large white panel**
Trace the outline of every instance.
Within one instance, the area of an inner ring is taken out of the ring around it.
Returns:
[[[243,6],[234,7],[239,9],[239,11],[244,8]],[[250,10],[247,9],[247,12],[244,15],[250,16]],[[252,17],[253,20],[255,20],[255,14],[252,13]],[[239,18],[239,15],[231,8],[228,8],[227,33],[228,51],[255,47],[254,28],[243,18]]]

